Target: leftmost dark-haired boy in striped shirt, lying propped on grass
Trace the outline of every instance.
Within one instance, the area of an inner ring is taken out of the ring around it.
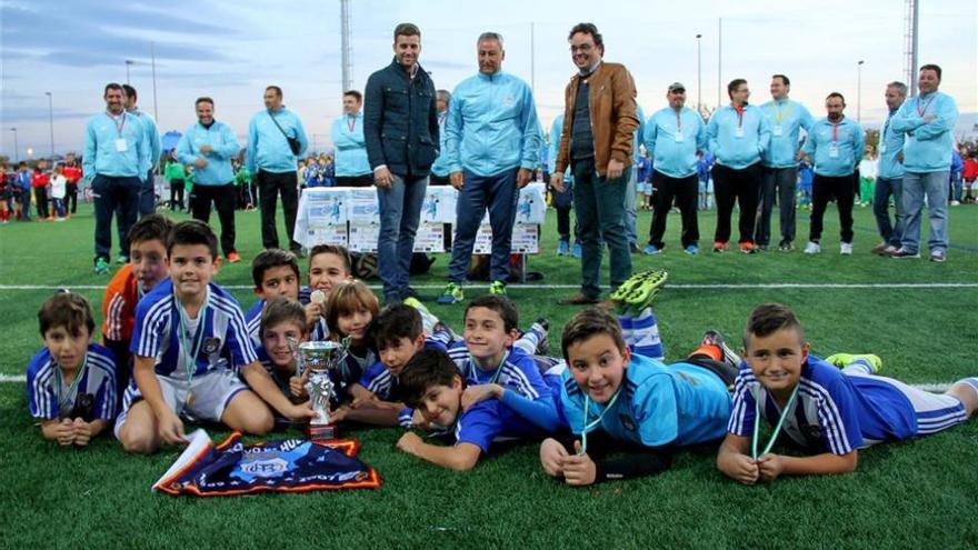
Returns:
[[[87,446],[116,418],[116,356],[92,342],[91,307],[59,292],[38,311],[44,349],[27,368],[28,408],[44,439]]]

